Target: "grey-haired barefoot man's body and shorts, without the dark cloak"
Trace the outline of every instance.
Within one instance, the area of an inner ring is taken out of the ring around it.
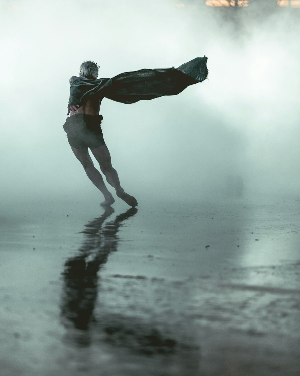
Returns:
[[[80,66],[79,76],[82,77],[82,79],[97,79],[97,64],[92,61],[84,62]],[[74,78],[77,77],[72,76],[70,78],[70,84]],[[133,196],[127,194],[121,187],[117,171],[111,165],[110,152],[103,139],[100,126],[103,117],[99,115],[102,99],[103,97],[89,96],[89,99],[83,105],[68,107],[68,115],[70,114],[70,118],[66,121],[65,130],[68,130],[69,144],[76,158],[83,165],[87,176],[103,193],[105,200],[101,203],[102,206],[111,205],[115,200],[108,191],[100,172],[94,166],[88,148],[90,148],[99,163],[100,169],[105,175],[107,182],[115,188],[116,195],[129,206],[134,207],[138,205],[138,203]]]

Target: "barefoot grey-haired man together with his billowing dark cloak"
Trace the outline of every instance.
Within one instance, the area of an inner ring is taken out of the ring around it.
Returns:
[[[135,103],[165,95],[177,95],[187,86],[207,78],[207,58],[195,58],[178,68],[141,69],[118,74],[113,78],[98,77],[98,65],[85,61],[78,76],[70,78],[68,115],[63,128],[76,158],[83,165],[87,176],[104,195],[102,206],[114,203],[99,171],[94,167],[89,149],[100,165],[107,182],[114,187],[117,197],[129,206],[138,205],[136,199],[120,185],[117,171],[111,165],[110,152],[104,142],[99,115],[102,99],[121,103]]]

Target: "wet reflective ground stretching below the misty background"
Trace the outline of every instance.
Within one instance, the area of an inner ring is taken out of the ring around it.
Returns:
[[[4,205],[0,374],[299,375],[300,201]]]

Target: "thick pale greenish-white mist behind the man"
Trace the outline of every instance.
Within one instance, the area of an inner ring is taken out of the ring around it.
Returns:
[[[103,100],[121,185],[138,201],[297,195],[299,18],[241,9],[237,23],[202,3],[2,1],[2,197],[102,199],[62,127],[81,62],[113,77],[204,55],[208,79],[178,96]]]

